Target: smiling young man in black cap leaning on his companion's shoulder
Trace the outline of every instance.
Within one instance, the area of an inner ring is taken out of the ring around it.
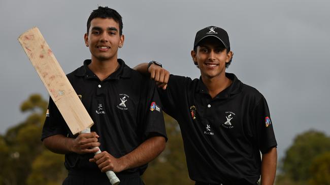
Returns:
[[[277,151],[265,98],[225,73],[232,62],[228,34],[210,26],[196,33],[191,57],[201,71],[190,79],[157,62],[135,67],[160,83],[163,110],[181,128],[189,176],[203,184],[273,184]],[[262,160],[260,157],[262,153]]]

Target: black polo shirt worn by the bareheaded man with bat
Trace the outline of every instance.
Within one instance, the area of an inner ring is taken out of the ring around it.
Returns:
[[[119,158],[150,136],[160,135],[167,139],[154,81],[129,68],[121,59],[118,59],[118,70],[100,81],[87,67],[90,62],[85,60],[83,66],[67,76],[94,121],[91,131],[100,135],[101,151]],[[55,134],[75,137],[51,98],[48,110],[42,140]],[[101,173],[95,163],[88,161],[92,157],[93,154],[66,154],[64,165],[68,170]],[[146,168],[147,165],[143,165],[122,173],[142,174]]]

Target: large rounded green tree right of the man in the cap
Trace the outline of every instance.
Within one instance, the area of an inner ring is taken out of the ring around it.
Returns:
[[[280,167],[277,184],[308,184],[310,168],[315,157],[330,151],[330,137],[309,130],[294,138]]]

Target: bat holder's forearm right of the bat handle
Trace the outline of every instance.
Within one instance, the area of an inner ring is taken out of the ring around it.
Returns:
[[[142,166],[156,158],[165,149],[165,138],[150,137],[134,151],[121,157],[123,170]]]

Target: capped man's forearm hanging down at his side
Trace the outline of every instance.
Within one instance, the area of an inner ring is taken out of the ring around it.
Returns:
[[[277,149],[272,148],[268,153],[262,155],[261,162],[261,184],[273,185],[276,175]]]

